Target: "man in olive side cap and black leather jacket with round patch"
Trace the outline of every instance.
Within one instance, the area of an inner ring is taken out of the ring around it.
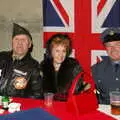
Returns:
[[[39,63],[31,56],[32,45],[30,32],[14,23],[12,50],[0,52],[0,95],[41,96]]]

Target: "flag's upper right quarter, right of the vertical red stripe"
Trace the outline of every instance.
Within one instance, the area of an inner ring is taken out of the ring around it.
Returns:
[[[120,0],[92,0],[92,32],[120,27]]]

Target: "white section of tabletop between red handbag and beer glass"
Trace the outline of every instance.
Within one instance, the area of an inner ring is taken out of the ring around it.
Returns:
[[[98,110],[100,112],[103,112],[103,113],[105,113],[105,114],[107,114],[109,116],[112,116],[113,118],[115,118],[117,120],[120,120],[120,115],[112,115],[110,109],[111,109],[110,105],[99,105],[99,108],[98,108]]]

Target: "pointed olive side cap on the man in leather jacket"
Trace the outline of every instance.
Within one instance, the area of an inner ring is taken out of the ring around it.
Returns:
[[[20,34],[27,35],[32,40],[32,36],[27,29],[25,29],[24,27],[22,27],[16,23],[13,23],[12,38],[15,37],[16,35],[20,35]]]

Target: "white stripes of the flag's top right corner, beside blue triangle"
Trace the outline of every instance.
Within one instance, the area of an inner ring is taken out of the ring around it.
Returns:
[[[113,5],[115,4],[116,0],[106,0],[106,3],[97,15],[97,5],[100,0],[92,0],[92,33],[101,33],[105,28],[101,28],[104,21],[106,20],[110,10],[112,9]],[[119,11],[118,11],[119,12]]]

